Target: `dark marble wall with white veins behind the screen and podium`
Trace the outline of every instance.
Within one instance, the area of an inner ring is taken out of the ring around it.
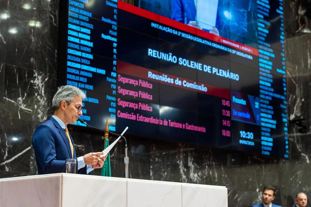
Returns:
[[[58,1],[0,1],[0,178],[37,173],[31,137],[53,112]],[[303,1],[284,2],[290,159],[128,137],[131,178],[227,186],[230,207],[261,202],[268,184],[276,186],[275,203],[283,207],[293,204],[297,192],[311,195],[311,34],[304,33],[310,29],[309,14],[301,12]],[[306,133],[293,122],[299,117]],[[70,133],[77,154],[102,150],[102,134],[76,128]],[[120,141],[110,154],[115,177],[125,174],[122,146]]]

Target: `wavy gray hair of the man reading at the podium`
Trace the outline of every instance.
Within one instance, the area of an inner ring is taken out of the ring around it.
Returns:
[[[77,95],[83,99],[86,98],[86,94],[76,86],[73,85],[62,85],[57,88],[57,91],[53,97],[52,105],[54,110],[60,108],[60,103],[64,100],[69,105],[73,101],[73,97]]]

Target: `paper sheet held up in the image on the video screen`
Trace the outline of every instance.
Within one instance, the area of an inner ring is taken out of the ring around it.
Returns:
[[[218,0],[197,1],[197,22],[202,29],[211,30],[216,25]]]

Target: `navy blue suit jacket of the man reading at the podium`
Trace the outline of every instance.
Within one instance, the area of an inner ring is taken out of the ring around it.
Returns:
[[[73,145],[71,136],[70,139]],[[36,128],[32,137],[32,146],[35,150],[39,175],[66,172],[66,159],[72,159],[69,140],[63,128],[53,117]],[[73,159],[77,160],[74,147]],[[86,166],[76,173],[86,174]]]

